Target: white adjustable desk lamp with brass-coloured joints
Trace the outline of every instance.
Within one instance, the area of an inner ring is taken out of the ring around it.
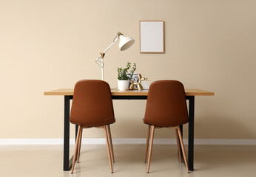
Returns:
[[[104,52],[101,52],[101,55],[95,60],[95,62],[98,64],[98,66],[101,66],[101,80],[104,80],[104,56],[105,53],[110,49],[110,47],[115,44],[116,41],[120,38],[119,42],[119,49],[121,51],[128,49],[132,44],[135,43],[135,40],[130,37],[124,37],[124,35],[121,32],[118,32],[118,35],[115,36],[112,44],[107,47],[107,49]]]

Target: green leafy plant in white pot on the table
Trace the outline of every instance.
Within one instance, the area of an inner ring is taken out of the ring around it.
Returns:
[[[129,80],[132,79],[133,73],[136,70],[136,63],[133,63],[132,69],[131,63],[127,62],[127,67],[122,69],[118,67],[118,89],[120,91],[127,91],[129,86]]]

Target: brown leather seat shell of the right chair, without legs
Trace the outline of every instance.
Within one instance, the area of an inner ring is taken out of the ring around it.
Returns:
[[[144,123],[172,127],[188,121],[183,84],[177,80],[153,82],[149,87]]]

